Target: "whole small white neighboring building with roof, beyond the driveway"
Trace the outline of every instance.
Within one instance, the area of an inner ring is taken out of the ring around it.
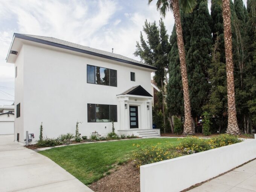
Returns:
[[[0,106],[0,135],[14,134],[14,105]]]

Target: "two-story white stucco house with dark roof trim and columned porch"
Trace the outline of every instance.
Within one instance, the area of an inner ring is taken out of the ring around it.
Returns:
[[[148,64],[52,37],[14,34],[6,61],[15,65],[15,140],[26,131],[82,136],[97,131],[159,136],[152,129],[151,73]]]

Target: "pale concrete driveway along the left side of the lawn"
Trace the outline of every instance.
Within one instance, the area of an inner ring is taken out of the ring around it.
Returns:
[[[0,135],[0,192],[93,192],[49,158]]]

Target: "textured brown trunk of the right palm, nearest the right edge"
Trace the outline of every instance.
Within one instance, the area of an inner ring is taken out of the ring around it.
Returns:
[[[234,64],[232,58],[232,33],[230,20],[230,0],[222,0],[222,17],[224,24],[224,41],[227,72],[227,105],[229,115],[227,133],[238,135],[240,134],[240,131],[236,119]]]

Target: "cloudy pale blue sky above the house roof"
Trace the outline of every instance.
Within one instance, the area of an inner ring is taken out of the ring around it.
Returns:
[[[158,21],[148,0],[0,0],[0,99],[14,100],[14,65],[5,58],[13,33],[55,37],[139,60],[133,55],[147,19]],[[245,0],[244,0],[245,2]],[[246,2],[245,2],[246,3]],[[172,13],[164,19],[168,33]],[[11,102],[0,101],[0,105]]]

